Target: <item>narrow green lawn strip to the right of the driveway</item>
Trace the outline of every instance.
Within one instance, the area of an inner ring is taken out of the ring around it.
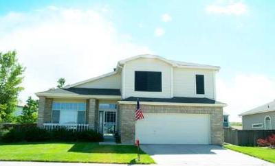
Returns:
[[[224,145],[225,148],[234,150],[236,152],[241,152],[243,154],[248,154],[256,158],[261,158],[265,161],[270,161],[275,163],[275,149],[270,149],[267,147],[247,147],[247,146],[236,146],[236,145]]]

